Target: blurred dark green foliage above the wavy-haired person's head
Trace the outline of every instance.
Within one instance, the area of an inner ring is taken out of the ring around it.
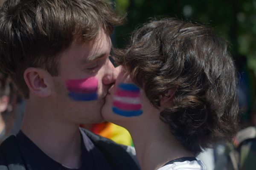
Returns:
[[[215,27],[231,44],[235,59],[246,57],[256,74],[256,0],[112,0],[127,14],[125,26],[116,28],[117,47],[123,47],[134,28],[149,17],[188,18]]]

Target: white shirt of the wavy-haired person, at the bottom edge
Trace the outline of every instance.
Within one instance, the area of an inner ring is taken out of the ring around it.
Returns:
[[[202,161],[183,161],[167,164],[158,170],[207,170]]]

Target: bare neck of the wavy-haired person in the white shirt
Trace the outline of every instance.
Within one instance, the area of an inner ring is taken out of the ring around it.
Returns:
[[[144,121],[135,122],[127,128],[142,170],[157,170],[173,159],[193,157],[174,139],[168,127],[157,116],[154,119],[142,119]]]

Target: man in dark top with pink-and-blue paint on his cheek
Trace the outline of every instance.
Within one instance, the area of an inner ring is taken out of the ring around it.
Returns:
[[[139,169],[127,147],[79,128],[103,121],[105,96],[116,79],[110,34],[122,23],[103,0],[3,4],[0,68],[25,97],[26,111],[20,132],[0,146],[0,167]]]

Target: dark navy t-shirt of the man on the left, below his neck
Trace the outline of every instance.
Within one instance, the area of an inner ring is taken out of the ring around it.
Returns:
[[[17,134],[17,143],[27,170],[113,170],[86,134],[82,130],[80,133],[82,137],[82,164],[78,169],[70,169],[47,156],[20,130]]]

